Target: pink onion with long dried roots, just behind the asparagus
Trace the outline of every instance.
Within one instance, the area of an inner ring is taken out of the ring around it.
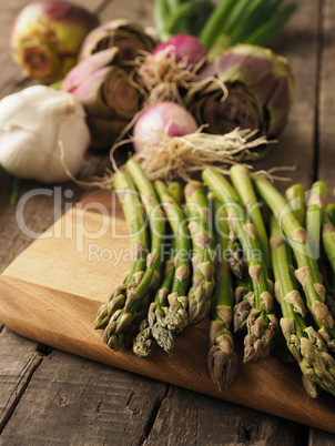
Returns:
[[[133,158],[141,163],[150,180],[189,181],[194,173],[207,166],[215,165],[226,173],[230,165],[254,159],[255,150],[274,142],[265,136],[255,139],[257,130],[236,128],[223,135],[204,133],[203,130],[204,126],[199,128],[185,108],[174,102],[153,104],[138,118],[131,140],[121,141],[112,148],[113,169],[119,169],[114,151],[132,142],[135,149]],[[110,187],[112,178],[110,172],[94,185]]]

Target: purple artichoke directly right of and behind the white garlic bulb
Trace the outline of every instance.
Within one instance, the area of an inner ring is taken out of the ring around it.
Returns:
[[[142,95],[131,71],[121,63],[119,49],[109,48],[79,62],[62,83],[61,90],[84,105],[94,149],[111,148],[141,108]]]

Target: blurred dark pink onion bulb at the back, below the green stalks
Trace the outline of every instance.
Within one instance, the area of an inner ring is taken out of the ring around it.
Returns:
[[[168,47],[171,47],[171,51],[175,52],[176,61],[187,58],[191,65],[196,65],[196,63],[207,55],[207,50],[204,44],[196,37],[189,34],[175,34],[154,48],[151,53],[156,55]],[[168,52],[166,57],[169,55],[170,53]]]

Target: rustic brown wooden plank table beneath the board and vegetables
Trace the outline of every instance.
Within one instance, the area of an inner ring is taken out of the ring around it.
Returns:
[[[79,2],[79,1],[78,1]],[[8,48],[13,18],[27,0],[1,0],[0,94],[28,87]],[[101,21],[128,18],[151,23],[148,0],[81,0]],[[315,179],[335,186],[335,2],[297,0],[298,12],[273,43],[296,74],[290,124],[256,169],[296,164],[296,182]],[[102,154],[87,155],[82,178],[101,173]],[[23,182],[21,194],[39,187]],[[278,184],[284,189],[286,185]],[[10,204],[12,179],[0,178],[0,271],[31,240],[20,232]],[[75,203],[87,192],[68,183]],[[52,187],[50,187],[52,191]],[[57,212],[60,210],[58,209]],[[26,224],[42,232],[54,221],[52,196],[31,199]],[[22,338],[0,322],[0,444],[275,444],[333,445],[335,435],[225,403],[183,388],[75,357]]]

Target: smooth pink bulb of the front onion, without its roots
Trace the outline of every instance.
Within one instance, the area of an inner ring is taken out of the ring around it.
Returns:
[[[182,136],[196,130],[195,119],[182,105],[159,102],[149,107],[138,119],[133,130],[134,149],[141,152],[145,145],[159,145],[164,133]]]

